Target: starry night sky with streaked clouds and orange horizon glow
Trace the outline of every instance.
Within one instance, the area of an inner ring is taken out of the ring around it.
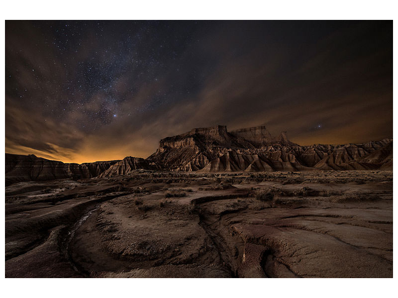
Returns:
[[[214,125],[392,138],[393,22],[5,22],[5,152],[145,158]]]

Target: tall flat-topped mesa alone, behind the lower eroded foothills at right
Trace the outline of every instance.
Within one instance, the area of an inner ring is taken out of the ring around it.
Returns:
[[[209,162],[220,158],[230,150],[238,154],[253,155],[265,151],[278,151],[281,146],[298,146],[291,143],[286,133],[272,137],[265,126],[228,132],[226,126],[195,128],[173,137],[162,139],[159,149],[149,160],[166,170],[196,171],[208,169]],[[210,166],[211,171],[215,168]],[[222,167],[221,167],[222,168]],[[244,165],[232,168],[246,168]],[[225,169],[229,171],[229,167]]]

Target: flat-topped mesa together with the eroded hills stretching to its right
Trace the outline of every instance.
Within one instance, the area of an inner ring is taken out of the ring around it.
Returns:
[[[375,157],[370,155],[382,148]],[[289,141],[286,132],[273,137],[265,126],[232,132],[225,126],[217,126],[165,138],[148,159],[165,170],[183,171],[389,169],[392,168],[392,140],[299,146]]]

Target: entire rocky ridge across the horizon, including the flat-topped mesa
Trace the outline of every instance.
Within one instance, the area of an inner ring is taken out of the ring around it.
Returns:
[[[392,170],[393,140],[363,144],[300,146],[286,132],[272,136],[265,126],[227,131],[194,128],[159,142],[148,158],[63,163],[35,155],[5,153],[6,185],[20,181],[125,175],[137,169],[166,171]]]

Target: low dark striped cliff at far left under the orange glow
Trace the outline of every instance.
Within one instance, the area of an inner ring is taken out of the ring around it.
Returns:
[[[5,185],[22,181],[92,178],[118,160],[63,163],[31,155],[5,153]]]

